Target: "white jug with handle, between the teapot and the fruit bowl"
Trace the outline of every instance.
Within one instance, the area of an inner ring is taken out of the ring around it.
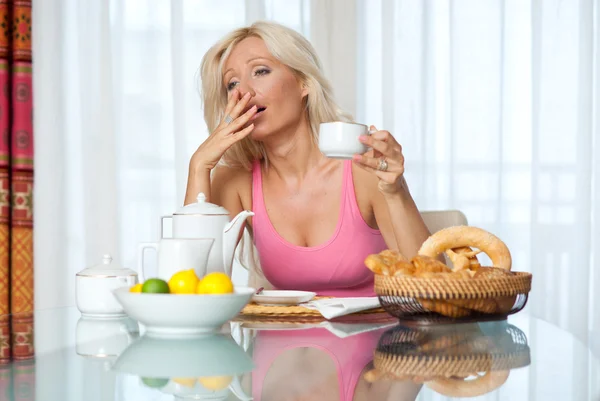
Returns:
[[[169,281],[181,270],[194,269],[198,278],[206,275],[206,265],[214,238],[163,238],[159,242],[145,242],[138,247],[138,274],[140,282],[157,277]],[[144,270],[144,250],[152,248],[158,253],[156,275],[149,276]]]

